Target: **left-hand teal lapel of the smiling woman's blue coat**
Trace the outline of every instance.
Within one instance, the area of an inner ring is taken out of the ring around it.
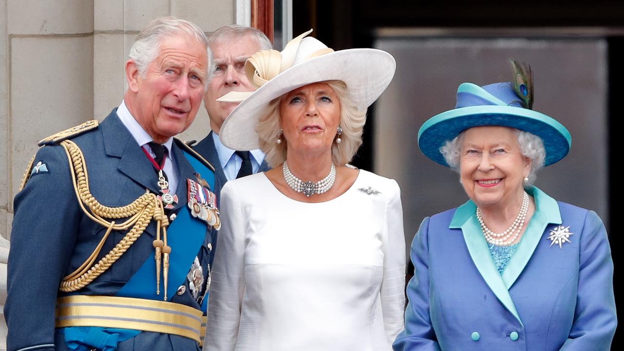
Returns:
[[[449,228],[462,229],[470,258],[472,258],[472,262],[479,270],[479,274],[505,308],[522,324],[522,320],[520,320],[518,311],[515,308],[514,300],[512,300],[509,290],[507,290],[499,271],[494,265],[494,260],[492,260],[492,255],[487,247],[487,242],[481,232],[481,227],[475,214],[476,209],[477,206],[472,201],[468,201],[466,204],[458,207]]]

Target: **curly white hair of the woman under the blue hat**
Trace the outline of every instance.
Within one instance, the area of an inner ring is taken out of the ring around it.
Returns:
[[[537,179],[537,171],[544,166],[544,159],[546,158],[544,142],[542,142],[542,138],[530,132],[520,131],[519,129],[514,129],[514,131],[522,156],[531,160],[531,170],[527,176],[529,181],[525,184],[532,185],[535,179]],[[459,172],[459,156],[461,154],[463,136],[464,132],[461,132],[453,140],[444,142],[444,145],[440,147],[440,153],[444,156],[446,163],[457,172]]]

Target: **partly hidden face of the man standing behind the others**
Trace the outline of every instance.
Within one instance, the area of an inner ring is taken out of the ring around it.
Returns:
[[[210,45],[214,71],[206,91],[204,106],[210,116],[210,129],[219,133],[225,117],[238,102],[219,102],[217,99],[230,91],[254,91],[245,74],[245,61],[260,50],[260,45],[251,36],[236,41],[214,42]]]

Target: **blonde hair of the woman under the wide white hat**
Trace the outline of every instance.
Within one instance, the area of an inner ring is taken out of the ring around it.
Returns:
[[[343,134],[340,144],[331,144],[331,159],[336,165],[344,165],[351,162],[353,156],[362,145],[362,132],[366,123],[366,109],[357,109],[351,97],[349,97],[347,86],[343,81],[326,81],[334,90],[340,101],[340,127]],[[288,92],[286,93],[288,94]],[[283,141],[277,144],[280,137],[280,101],[286,94],[273,99],[263,109],[256,124],[260,150],[266,154],[266,162],[271,167],[276,167],[286,160],[288,154],[288,142]]]

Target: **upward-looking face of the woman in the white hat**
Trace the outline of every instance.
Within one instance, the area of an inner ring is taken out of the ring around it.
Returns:
[[[331,154],[340,124],[340,101],[326,83],[313,83],[288,92],[280,101],[280,126],[288,152]]]

